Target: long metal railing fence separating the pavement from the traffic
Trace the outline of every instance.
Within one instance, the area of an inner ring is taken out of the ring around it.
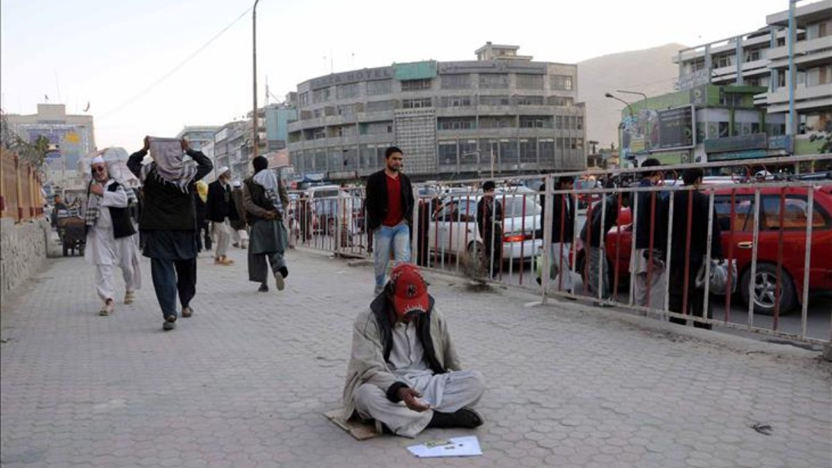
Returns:
[[[832,155],[769,162],[828,164]],[[644,187],[556,187],[559,177],[587,172],[497,180],[493,200],[503,216],[493,219],[483,214],[488,199],[479,187],[486,179],[414,184],[413,260],[428,269],[531,288],[543,302],[552,296],[583,299],[694,326],[829,344],[832,300],[822,296],[832,295],[832,175],[751,182],[723,177],[693,187],[678,180],[688,167],[717,166],[746,167],[721,162],[607,172],[617,179],[664,174]],[[542,178],[543,190],[522,185]],[[593,217],[598,229],[590,228]],[[297,194],[289,223],[297,245],[371,255],[361,192],[312,200]],[[646,246],[636,248],[639,229]],[[696,276],[714,279],[697,287]],[[796,310],[799,317],[790,314]]]

